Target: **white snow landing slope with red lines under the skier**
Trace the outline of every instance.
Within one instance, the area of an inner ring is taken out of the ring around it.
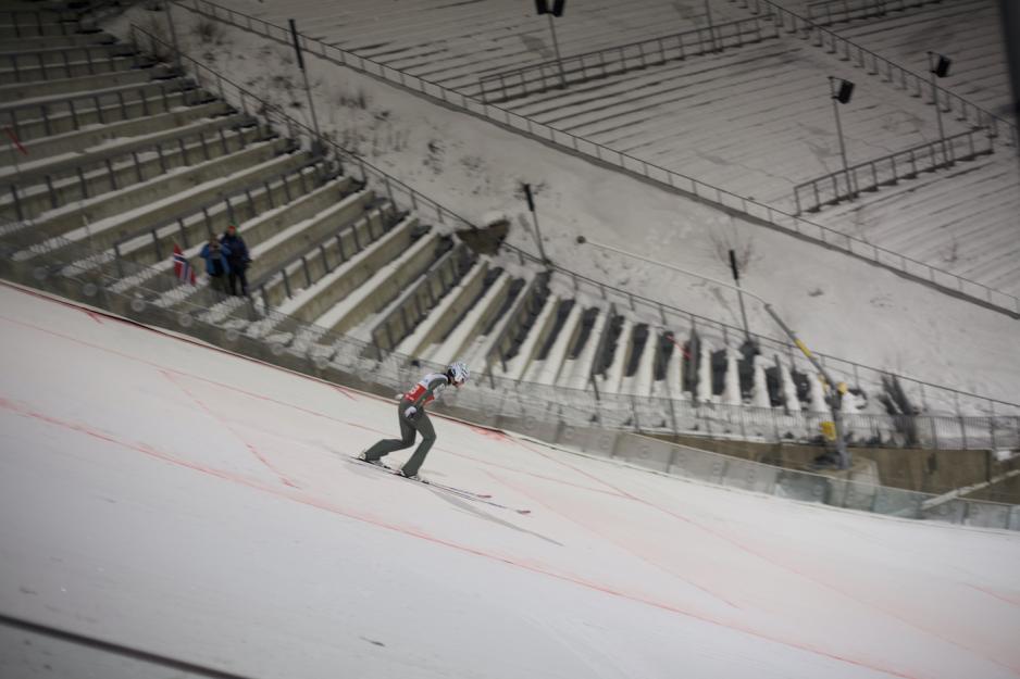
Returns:
[[[252,677],[1020,676],[1017,533],[436,419],[424,474],[522,516],[346,461],[390,402],[8,285],[0,310],[3,615]],[[23,637],[0,676],[85,674]]]

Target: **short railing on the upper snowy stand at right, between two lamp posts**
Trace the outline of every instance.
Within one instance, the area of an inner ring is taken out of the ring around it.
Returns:
[[[823,205],[838,203],[861,191],[876,191],[880,187],[898,184],[901,179],[913,179],[919,173],[950,167],[954,163],[970,161],[994,151],[992,140],[986,135],[967,130],[944,140],[929,141],[851,165],[849,174],[841,169],[795,186],[796,214],[818,212]]]

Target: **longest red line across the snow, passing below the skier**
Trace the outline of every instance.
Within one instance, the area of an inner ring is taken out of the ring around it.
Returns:
[[[3,407],[3,408],[5,408],[5,410],[8,410],[8,411],[11,411],[11,412],[13,412],[13,413],[15,413],[15,414],[17,414],[17,415],[23,416],[23,417],[30,417],[30,418],[38,419],[38,420],[40,420],[40,422],[47,423],[47,424],[49,424],[49,425],[55,426],[55,427],[61,427],[61,428],[64,428],[64,429],[70,429],[70,430],[72,430],[72,431],[77,431],[77,432],[79,432],[79,433],[84,433],[84,435],[86,435],[86,436],[89,436],[89,437],[92,437],[92,438],[97,438],[97,439],[100,439],[100,440],[105,441],[105,442],[109,442],[109,443],[114,443],[114,444],[120,445],[120,447],[122,447],[122,448],[127,448],[127,449],[129,449],[129,450],[138,451],[138,452],[140,452],[140,453],[145,453],[146,455],[150,455],[150,456],[156,457],[156,458],[158,458],[158,460],[160,460],[160,461],[163,461],[163,462],[167,462],[167,463],[171,463],[171,464],[179,465],[179,466],[182,466],[182,467],[186,467],[186,468],[192,469],[192,470],[195,470],[195,471],[200,471],[200,473],[202,473],[202,474],[208,474],[208,475],[210,475],[210,476],[213,476],[213,477],[215,477],[215,478],[220,478],[220,479],[229,481],[229,482],[232,482],[232,483],[236,483],[236,485],[239,485],[239,486],[244,486],[244,487],[247,487],[247,488],[251,488],[251,489],[253,489],[253,490],[258,490],[258,491],[271,493],[271,494],[274,494],[274,495],[277,495],[277,496],[281,496],[281,498],[285,498],[285,499],[287,499],[287,500],[291,500],[291,501],[294,501],[294,502],[298,502],[298,503],[300,503],[300,504],[304,504],[304,505],[307,505],[307,506],[313,506],[313,507],[316,507],[316,508],[320,508],[320,510],[324,510],[324,511],[331,512],[331,513],[333,513],[333,514],[337,514],[337,515],[339,515],[339,516],[344,516],[344,517],[347,517],[347,518],[350,518],[350,519],[353,519],[353,520],[358,520],[358,521],[362,521],[362,523],[365,523],[365,524],[370,524],[370,525],[373,525],[373,526],[376,526],[376,527],[380,527],[380,528],[385,528],[385,529],[391,530],[391,531],[394,531],[394,532],[402,533],[402,535],[410,536],[410,537],[413,537],[413,538],[419,538],[419,539],[421,539],[421,540],[426,540],[426,541],[433,542],[433,543],[435,543],[435,544],[440,544],[440,545],[444,545],[444,546],[448,546],[448,548],[458,550],[458,551],[460,551],[460,552],[464,552],[464,553],[467,553],[467,554],[473,554],[473,555],[475,555],[475,556],[481,556],[481,557],[484,557],[484,558],[487,558],[487,559],[490,559],[490,561],[500,562],[500,563],[507,564],[507,565],[509,565],[509,566],[513,566],[513,567],[515,567],[515,568],[521,568],[521,569],[523,569],[523,570],[530,570],[530,571],[532,571],[532,573],[537,573],[537,574],[539,574],[539,575],[545,575],[545,576],[548,576],[548,577],[552,577],[552,578],[558,579],[558,580],[562,580],[562,581],[564,581],[564,582],[572,582],[572,583],[574,583],[574,584],[579,584],[579,586],[581,586],[581,587],[584,587],[584,588],[587,588],[587,589],[590,589],[590,590],[604,592],[604,593],[606,593],[606,594],[611,594],[611,595],[613,595],[613,596],[619,596],[619,598],[624,599],[624,600],[627,600],[627,601],[633,601],[633,602],[635,602],[635,603],[645,604],[645,605],[652,606],[652,607],[655,607],[655,608],[659,608],[659,609],[667,611],[667,612],[670,612],[670,613],[675,613],[675,614],[677,614],[677,615],[682,615],[682,616],[684,616],[684,617],[688,617],[688,618],[693,618],[693,619],[696,619],[696,620],[700,620],[701,623],[706,623],[706,624],[708,624],[708,625],[712,625],[712,626],[716,626],[716,627],[722,627],[722,628],[725,628],[725,629],[731,629],[731,630],[733,630],[733,631],[741,632],[741,633],[747,634],[747,636],[749,636],[749,637],[754,637],[754,638],[756,638],[756,639],[761,639],[761,640],[763,640],[763,641],[768,641],[768,642],[771,642],[771,643],[778,643],[778,644],[781,644],[781,645],[784,645],[784,646],[789,646],[789,647],[792,647],[792,649],[796,649],[796,650],[798,650],[798,651],[805,651],[805,652],[807,652],[807,653],[812,653],[812,654],[816,654],[816,655],[820,655],[820,656],[822,656],[822,657],[826,657],[826,658],[830,658],[830,659],[838,661],[838,662],[841,662],[841,663],[847,663],[847,664],[854,665],[854,666],[856,666],[856,667],[863,667],[863,668],[867,668],[867,669],[870,669],[870,670],[883,672],[883,674],[890,675],[891,677],[900,677],[901,679],[918,679],[918,678],[915,677],[913,675],[907,675],[907,674],[904,674],[904,672],[898,671],[898,670],[895,670],[895,669],[886,669],[886,668],[883,668],[883,667],[878,667],[878,666],[875,666],[875,665],[870,665],[870,664],[864,663],[864,662],[861,662],[861,661],[856,661],[856,659],[850,658],[850,657],[845,657],[845,656],[842,656],[842,655],[838,655],[838,654],[835,654],[835,653],[831,653],[831,652],[824,651],[824,650],[822,650],[822,649],[816,649],[816,647],[812,647],[812,646],[810,646],[810,645],[808,645],[808,644],[799,643],[799,642],[796,642],[796,641],[789,641],[789,640],[784,640],[784,639],[779,639],[779,638],[775,638],[775,637],[771,637],[771,636],[769,636],[769,634],[766,634],[766,633],[763,633],[763,632],[759,632],[759,631],[757,631],[757,630],[754,630],[754,629],[750,629],[750,628],[747,628],[747,627],[743,627],[743,626],[739,626],[739,625],[736,625],[736,624],[733,624],[733,623],[725,623],[725,621],[722,621],[722,620],[713,619],[713,618],[708,617],[708,616],[706,616],[706,615],[693,613],[693,612],[689,612],[689,611],[684,611],[683,608],[680,608],[680,607],[677,607],[677,606],[675,606],[675,605],[668,604],[668,603],[660,602],[660,601],[655,601],[655,600],[652,600],[652,599],[649,599],[649,598],[647,598],[647,596],[643,596],[643,595],[639,595],[639,594],[633,594],[633,593],[624,592],[624,591],[622,591],[622,590],[614,589],[614,588],[611,588],[611,587],[609,587],[609,586],[606,586],[606,584],[602,584],[602,583],[599,583],[599,582],[594,582],[594,581],[587,580],[587,579],[582,578],[582,577],[580,577],[580,576],[574,576],[574,575],[569,575],[569,574],[557,573],[557,571],[555,571],[555,570],[551,570],[551,569],[546,568],[546,567],[543,567],[543,566],[538,566],[538,565],[535,565],[535,564],[528,564],[528,563],[525,563],[525,562],[522,562],[522,561],[517,561],[517,559],[514,559],[514,558],[512,558],[512,557],[510,557],[510,556],[507,556],[507,555],[496,554],[496,553],[492,553],[492,552],[485,552],[485,551],[482,551],[482,550],[480,550],[480,549],[476,549],[476,548],[473,548],[473,546],[469,546],[469,545],[467,545],[467,544],[459,544],[459,543],[452,542],[452,541],[450,541],[450,540],[447,540],[447,539],[445,539],[445,538],[439,538],[439,537],[437,537],[437,536],[432,536],[432,535],[425,533],[425,532],[423,532],[423,531],[421,531],[421,530],[416,530],[416,529],[414,529],[414,528],[410,528],[410,527],[407,527],[407,526],[399,526],[399,525],[396,525],[396,524],[388,523],[388,521],[386,521],[386,520],[382,520],[382,519],[380,519],[380,518],[377,518],[377,517],[373,517],[373,516],[365,515],[365,514],[359,514],[359,513],[356,513],[356,512],[353,512],[353,511],[351,511],[351,510],[348,510],[348,508],[346,508],[346,507],[340,507],[340,506],[337,506],[337,505],[335,505],[335,504],[332,504],[332,503],[329,503],[329,502],[327,502],[326,500],[323,500],[323,499],[321,499],[321,498],[315,498],[315,496],[313,496],[313,495],[309,495],[309,494],[307,494],[307,493],[299,492],[297,489],[288,490],[288,489],[281,489],[281,488],[278,488],[278,487],[274,487],[274,486],[269,486],[269,485],[266,485],[266,483],[264,483],[264,482],[257,481],[257,480],[254,480],[254,479],[249,479],[249,478],[246,478],[246,477],[236,475],[236,474],[231,474],[231,473],[228,473],[228,471],[224,471],[224,470],[222,470],[222,469],[216,469],[215,467],[209,467],[209,466],[203,465],[203,464],[200,464],[200,463],[196,463],[196,462],[191,462],[191,461],[188,461],[188,460],[183,460],[183,458],[176,457],[175,455],[173,455],[173,454],[171,454],[171,453],[166,453],[166,452],[164,452],[164,451],[160,451],[160,450],[154,449],[154,448],[152,448],[152,447],[150,447],[150,445],[148,445],[148,444],[146,444],[146,443],[133,442],[133,441],[123,441],[123,440],[121,440],[120,438],[117,438],[116,436],[114,436],[114,435],[112,435],[112,433],[107,433],[107,432],[103,432],[103,431],[99,431],[99,430],[97,430],[97,429],[95,429],[95,428],[92,428],[92,427],[90,427],[90,426],[88,426],[88,425],[85,425],[85,424],[73,423],[73,422],[62,420],[62,419],[59,419],[59,418],[57,418],[57,417],[52,417],[52,416],[47,415],[47,414],[45,414],[45,413],[40,413],[40,412],[38,412],[38,411],[34,411],[34,410],[32,410],[30,407],[28,407],[27,405],[22,405],[22,404],[15,403],[15,402],[13,402],[13,401],[10,401],[10,400],[8,400],[8,399],[5,399],[5,398],[3,398],[3,397],[0,397],[0,407]],[[408,488],[411,488],[411,487],[409,486]]]

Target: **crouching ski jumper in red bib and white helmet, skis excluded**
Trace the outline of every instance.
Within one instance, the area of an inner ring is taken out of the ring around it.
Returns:
[[[447,385],[453,385],[458,389],[468,381],[470,373],[468,366],[458,361],[450,365],[446,373],[430,373],[425,375],[414,388],[403,394],[400,404],[397,406],[397,420],[400,423],[399,439],[383,439],[372,448],[359,455],[360,460],[377,463],[381,457],[405,448],[411,448],[414,444],[415,432],[421,432],[422,442],[418,445],[410,460],[403,463],[399,474],[408,478],[416,479],[418,470],[425,462],[425,455],[428,449],[436,440],[436,430],[433,429],[428,415],[425,413],[425,405],[432,403],[439,395]]]

